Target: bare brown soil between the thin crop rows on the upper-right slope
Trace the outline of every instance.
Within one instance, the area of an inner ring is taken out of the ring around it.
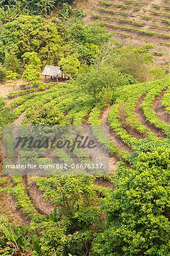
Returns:
[[[96,18],[92,16],[92,14],[99,14],[102,16],[99,20],[102,22],[107,22],[110,24],[118,24],[122,27],[136,27],[141,30],[149,30],[149,31],[155,31],[159,32],[162,34],[169,34],[169,30],[167,28],[159,28],[159,27],[152,27],[152,24],[156,24],[159,26],[167,26],[168,23],[163,22],[161,19],[168,19],[168,16],[163,15],[163,14],[152,14],[150,11],[161,11],[163,13],[169,13],[168,10],[164,9],[165,2],[163,0],[146,0],[144,2],[147,2],[146,5],[136,5],[136,3],[127,3],[125,0],[110,0],[109,2],[113,3],[118,3],[118,4],[123,4],[123,5],[128,5],[130,8],[123,9],[123,8],[118,8],[117,6],[107,6],[102,3],[99,3],[99,0],[82,0],[78,1],[76,0],[74,2],[74,5],[76,8],[80,7],[81,9],[84,9],[88,15],[84,18],[85,23],[93,23],[96,21]],[[153,4],[158,4],[161,5],[160,9],[156,9],[153,7]],[[105,13],[103,11],[95,9],[93,6],[96,5],[97,7],[103,7],[105,9],[110,9],[117,11],[115,14],[110,14],[110,13]],[[128,15],[123,15],[119,14],[118,11],[126,11]],[[144,19],[142,18],[143,16],[152,16],[154,19]],[[145,22],[144,26],[136,26],[135,24],[130,24],[130,23],[124,23],[119,20],[114,20],[114,19],[105,19],[104,16],[113,16],[117,18],[125,18],[125,19],[131,19],[135,20],[137,22]],[[117,40],[117,42],[122,43],[125,46],[142,46],[144,44],[154,44],[155,48],[154,51],[157,52],[163,52],[164,55],[162,56],[154,56],[154,59],[156,63],[158,64],[164,64],[166,61],[168,61],[169,58],[169,47],[165,45],[160,45],[159,43],[168,43],[169,40],[168,38],[165,37],[160,37],[158,35],[146,35],[146,34],[140,34],[139,32],[135,31],[126,31],[123,30],[122,28],[113,28],[113,27],[108,27],[107,28],[108,32],[114,32],[113,38]],[[121,33],[122,35],[120,35]],[[125,36],[123,34],[129,35]],[[153,50],[151,50],[152,52]]]

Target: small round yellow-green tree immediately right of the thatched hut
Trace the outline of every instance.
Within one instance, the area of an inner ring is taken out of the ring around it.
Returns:
[[[62,57],[58,65],[63,70],[64,75],[69,78],[78,76],[78,73],[80,73],[81,70],[80,61],[77,57],[71,55],[68,55],[65,58]]]

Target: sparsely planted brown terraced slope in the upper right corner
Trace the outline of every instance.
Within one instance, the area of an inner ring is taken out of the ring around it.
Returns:
[[[90,10],[87,20],[107,27],[113,33],[113,38],[122,44],[153,44],[155,52],[162,53],[154,54],[155,59],[164,61],[168,60],[169,53],[170,13],[168,5],[162,3],[159,8],[156,6],[149,1],[98,1]]]

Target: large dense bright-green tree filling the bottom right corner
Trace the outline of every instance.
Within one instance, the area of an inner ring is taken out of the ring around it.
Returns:
[[[115,189],[103,199],[106,230],[94,255],[169,255],[170,150],[141,153],[132,169],[119,168]]]

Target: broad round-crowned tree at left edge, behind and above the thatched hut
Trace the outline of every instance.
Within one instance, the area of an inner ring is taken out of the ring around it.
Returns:
[[[19,16],[6,23],[0,33],[2,61],[6,51],[13,52],[18,59],[25,52],[36,52],[43,64],[53,64],[60,49],[60,37],[55,24],[41,16]]]

